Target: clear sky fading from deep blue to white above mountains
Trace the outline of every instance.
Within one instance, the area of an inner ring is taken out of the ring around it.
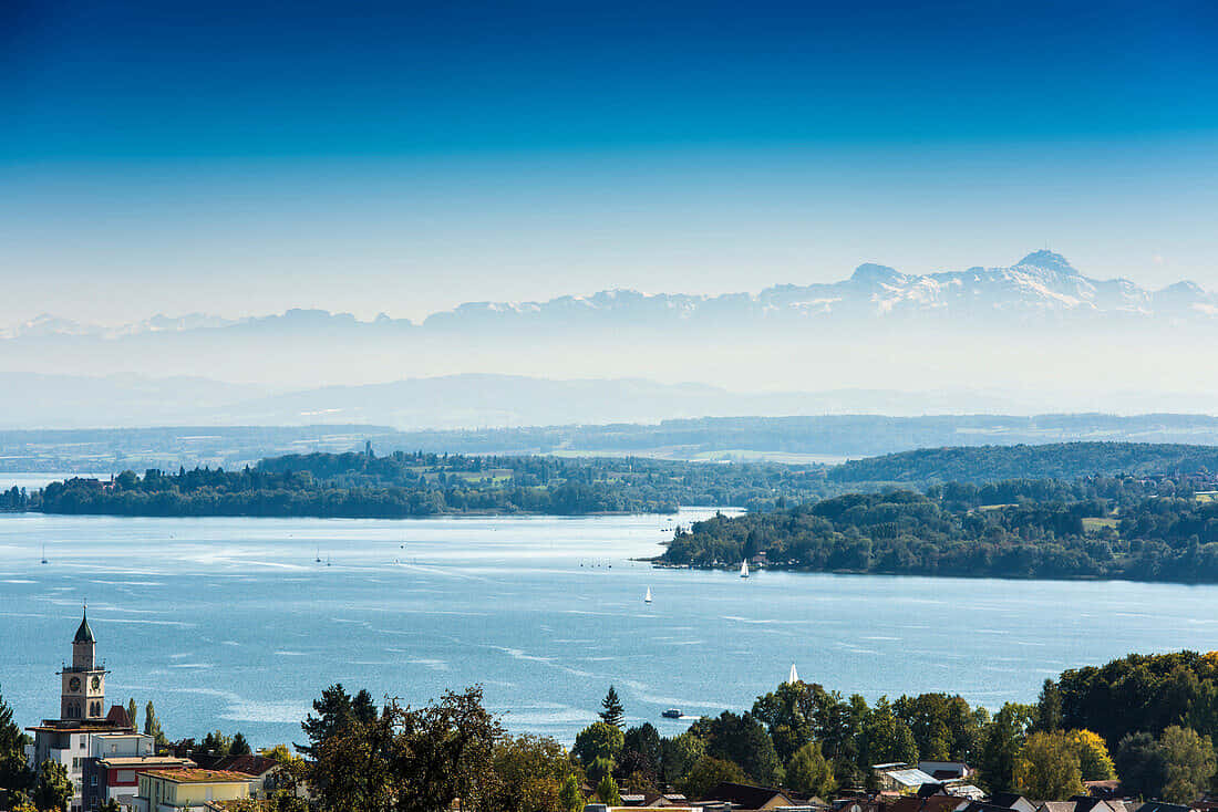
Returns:
[[[1012,264],[1218,289],[1218,6],[0,4],[0,325]]]

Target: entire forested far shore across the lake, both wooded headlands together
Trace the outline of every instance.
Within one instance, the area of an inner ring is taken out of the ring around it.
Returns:
[[[816,572],[1218,582],[1218,449],[1065,443],[921,449],[837,466],[646,458],[294,454],[0,493],[0,510],[407,519],[672,514],[655,562]],[[1005,477],[1012,471],[1040,476]],[[940,481],[937,472],[957,478]],[[870,478],[868,478],[870,477]]]

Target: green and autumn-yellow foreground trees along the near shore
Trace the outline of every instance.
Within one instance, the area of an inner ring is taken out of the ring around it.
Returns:
[[[132,719],[134,709],[132,700]],[[171,741],[151,702],[144,722],[158,752],[200,767],[250,750],[240,733],[219,730]],[[335,684],[301,728],[302,743],[263,751],[279,762],[272,791],[230,808],[438,812],[459,799],[470,812],[579,812],[587,802],[621,805],[627,794],[722,800],[725,786],[748,785],[828,811],[865,797],[892,802],[900,791],[883,785],[885,769],[927,761],[961,767],[962,780],[937,790],[966,793],[961,805],[977,793],[1066,800],[1083,795],[1085,782],[1110,782],[1113,797],[1192,805],[1218,772],[1218,653],[1129,655],[1069,670],[1046,679],[1035,702],[993,713],[948,693],[868,702],[795,681],[748,710],[661,737],[631,719],[610,687],[598,721],[566,747],[510,733],[477,687],[412,707],[392,698],[378,706],[369,691]],[[27,744],[0,698],[0,805],[62,811],[72,793],[63,766],[48,760],[34,773]]]

